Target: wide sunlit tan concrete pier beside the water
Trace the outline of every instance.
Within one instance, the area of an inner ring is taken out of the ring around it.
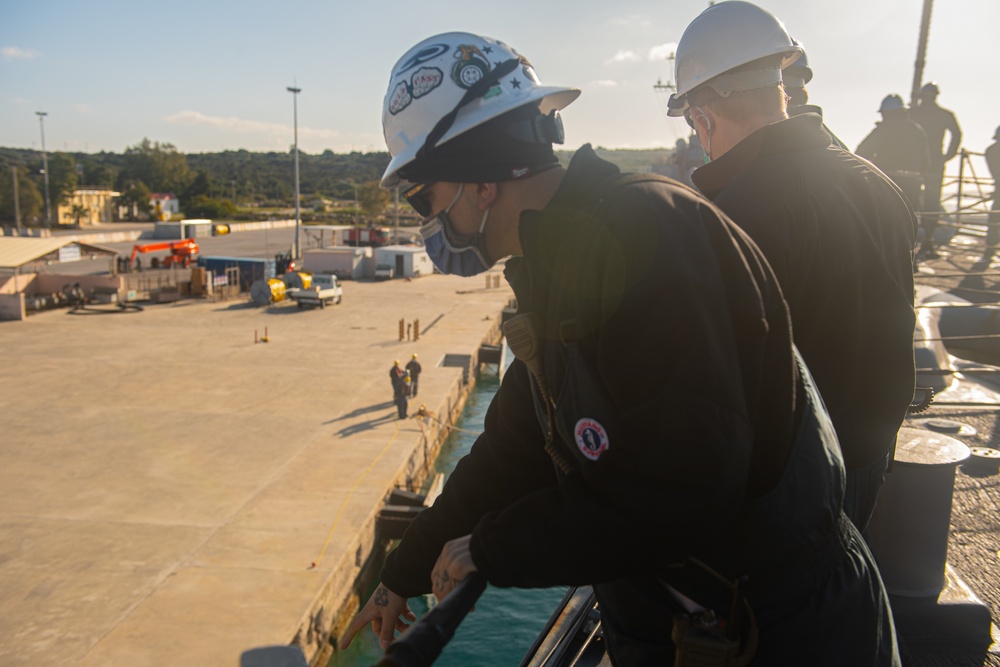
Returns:
[[[0,664],[236,665],[293,641],[322,658],[379,508],[426,473],[511,296],[434,275],[347,282],[323,310],[0,323]],[[396,419],[388,370],[412,353],[410,415],[434,419]]]

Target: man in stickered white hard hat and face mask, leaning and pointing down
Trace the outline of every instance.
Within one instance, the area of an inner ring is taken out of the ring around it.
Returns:
[[[405,181],[442,272],[509,258],[517,359],[341,646],[370,622],[393,651],[408,598],[478,571],[593,585],[615,665],[673,664],[700,632],[674,614],[697,606],[720,641],[731,621],[731,664],[892,664],[881,581],[841,512],[835,436],[767,263],[675,181],[589,146],[560,167],[555,111],[577,94],[468,33],[392,70],[383,182]]]

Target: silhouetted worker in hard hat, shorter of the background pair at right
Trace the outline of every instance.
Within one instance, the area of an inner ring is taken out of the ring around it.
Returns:
[[[927,135],[910,120],[899,95],[887,95],[879,112],[882,122],[875,124],[854,152],[891,178],[914,211],[922,211],[924,178],[930,169]]]

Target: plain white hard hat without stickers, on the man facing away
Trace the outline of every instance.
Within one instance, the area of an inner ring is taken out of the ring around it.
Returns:
[[[781,21],[767,10],[741,0],[720,2],[699,14],[681,35],[674,61],[677,92],[667,114],[682,116],[687,94],[708,84],[726,97],[781,83],[781,70],[795,62],[802,47],[794,44]],[[772,66],[731,72],[762,58],[776,57]]]

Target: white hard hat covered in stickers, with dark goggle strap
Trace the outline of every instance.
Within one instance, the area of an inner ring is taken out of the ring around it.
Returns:
[[[477,83],[474,92],[484,83],[485,90],[468,99]],[[435,129],[443,134],[428,148],[519,107],[537,104],[542,114],[548,114],[579,95],[575,88],[542,86],[531,64],[498,40],[464,32],[425,39],[392,68],[382,106],[382,130],[391,160],[381,185],[399,184],[399,170],[416,159]],[[437,128],[447,116],[452,116],[450,125]]]

